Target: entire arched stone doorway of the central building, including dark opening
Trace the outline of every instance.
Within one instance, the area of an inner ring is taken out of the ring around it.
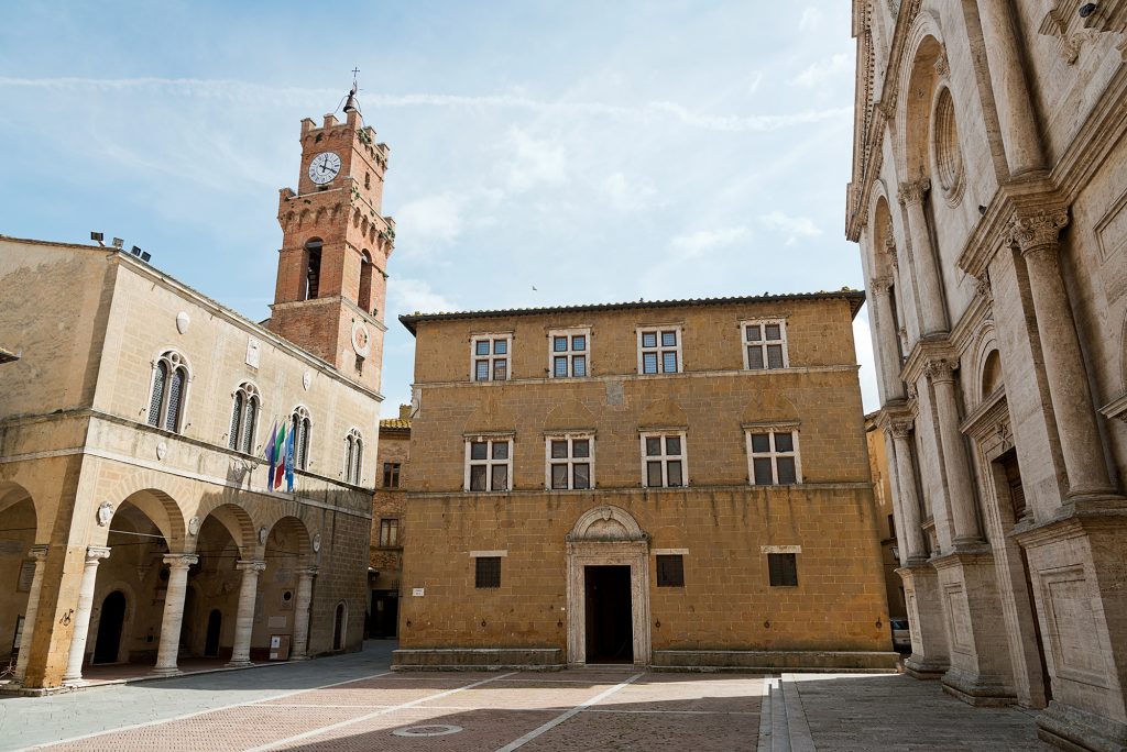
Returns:
[[[649,538],[624,509],[596,507],[567,536],[568,663],[650,661]]]

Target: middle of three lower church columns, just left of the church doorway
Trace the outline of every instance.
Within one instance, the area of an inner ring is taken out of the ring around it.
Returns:
[[[959,408],[955,399],[955,366],[950,360],[932,360],[928,375],[935,391],[939,412],[939,440],[943,447],[943,465],[951,502],[955,545],[983,541],[975,511],[975,490],[967,464],[967,451],[959,431]]]

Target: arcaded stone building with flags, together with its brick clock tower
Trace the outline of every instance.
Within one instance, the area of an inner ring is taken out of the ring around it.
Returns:
[[[394,230],[388,149],[346,111],[302,122],[263,323],[121,249],[0,238],[21,355],[0,390],[0,656],[24,691],[360,648]]]

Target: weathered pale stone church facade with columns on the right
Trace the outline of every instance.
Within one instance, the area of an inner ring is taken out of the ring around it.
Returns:
[[[908,670],[1127,745],[1127,2],[855,0]]]

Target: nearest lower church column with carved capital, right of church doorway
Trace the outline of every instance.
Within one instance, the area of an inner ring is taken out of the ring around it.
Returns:
[[[1068,474],[1068,499],[1077,499],[1108,495],[1115,487],[1103,462],[1084,357],[1057,258],[1058,234],[1067,224],[1065,211],[1015,215],[1013,238],[1029,271],[1045,376]]]

